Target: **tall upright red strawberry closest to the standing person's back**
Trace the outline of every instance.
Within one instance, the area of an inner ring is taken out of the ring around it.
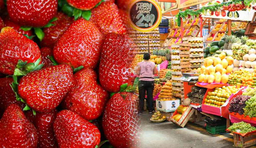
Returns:
[[[120,86],[129,83],[133,77],[131,63],[134,57],[132,40],[120,34],[107,34],[102,46],[99,79],[109,92],[118,92]]]

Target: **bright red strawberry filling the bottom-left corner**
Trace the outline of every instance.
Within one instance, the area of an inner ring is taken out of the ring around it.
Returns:
[[[3,148],[36,148],[38,135],[34,125],[16,104],[7,107],[0,120],[0,146]]]

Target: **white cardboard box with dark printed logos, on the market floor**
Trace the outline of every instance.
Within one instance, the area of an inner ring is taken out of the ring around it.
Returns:
[[[156,100],[156,109],[162,112],[174,112],[180,106],[180,100],[160,101]]]

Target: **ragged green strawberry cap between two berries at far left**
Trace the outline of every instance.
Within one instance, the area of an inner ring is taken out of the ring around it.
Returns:
[[[27,61],[18,60],[16,68],[14,69],[14,74],[12,75],[13,82],[12,84],[10,84],[10,86],[12,87],[12,91],[14,91],[15,93],[17,101],[20,101],[26,104],[24,99],[22,99],[18,94],[18,84],[19,84],[18,78],[25,76],[32,71],[40,70],[44,66],[44,64],[40,64],[40,61],[41,61],[40,58],[36,60],[36,62],[34,63],[28,63]],[[23,108],[23,111],[28,111],[30,109],[31,108],[26,104],[26,106]],[[36,112],[34,110],[32,111],[33,111],[33,114],[36,115]]]

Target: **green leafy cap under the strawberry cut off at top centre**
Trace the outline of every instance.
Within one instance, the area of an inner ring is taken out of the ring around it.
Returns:
[[[105,0],[101,0],[94,8],[98,7],[102,2]],[[73,6],[70,6],[66,0],[58,0],[58,6],[60,7],[60,10],[67,14],[68,16],[72,17],[74,16],[75,20],[78,20],[78,18],[82,17],[85,20],[90,20],[92,12],[91,10],[80,10],[77,8],[74,8]]]

